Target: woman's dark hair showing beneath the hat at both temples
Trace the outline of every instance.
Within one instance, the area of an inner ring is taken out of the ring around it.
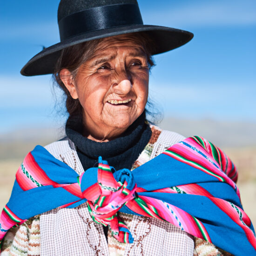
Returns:
[[[135,38],[136,40],[141,43],[141,45],[144,47],[145,52],[148,57],[148,66],[149,69],[153,67],[154,61],[151,57],[151,52],[153,50],[154,44],[148,37],[146,33],[133,33],[128,34],[130,37]],[[59,85],[59,87],[64,92],[64,97],[66,98],[66,108],[67,112],[70,116],[72,115],[81,115],[82,114],[82,106],[78,99],[73,99],[65,87],[64,83],[61,81],[60,78],[60,71],[63,68],[67,68],[73,79],[75,79],[75,76],[77,74],[77,71],[79,67],[87,61],[89,58],[91,58],[94,54],[93,49],[96,48],[96,46],[102,41],[103,39],[96,39],[91,40],[88,42],[83,42],[81,44],[77,44],[71,47],[67,47],[61,51],[61,55],[59,60],[56,63],[55,66],[55,72],[53,74],[54,81]]]

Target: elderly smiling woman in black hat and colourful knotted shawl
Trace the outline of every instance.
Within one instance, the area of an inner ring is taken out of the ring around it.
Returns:
[[[229,158],[146,120],[151,55],[192,34],[143,25],[136,0],[61,0],[58,21],[61,42],[21,74],[54,74],[67,137],[18,169],[1,255],[255,253]]]

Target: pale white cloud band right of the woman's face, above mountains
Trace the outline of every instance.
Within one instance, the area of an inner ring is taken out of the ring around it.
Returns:
[[[167,115],[212,116],[219,119],[256,121],[254,85],[228,84],[155,84],[149,95]]]

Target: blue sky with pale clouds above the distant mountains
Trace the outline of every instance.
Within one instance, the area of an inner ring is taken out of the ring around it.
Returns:
[[[20,69],[59,42],[59,0],[12,0],[0,8],[0,133],[61,124],[50,75]],[[165,116],[256,122],[256,1],[138,0],[144,24],[191,31],[187,45],[155,56],[150,95]],[[56,121],[57,120],[57,121]]]

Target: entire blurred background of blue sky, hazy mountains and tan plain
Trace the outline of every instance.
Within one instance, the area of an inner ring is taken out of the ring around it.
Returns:
[[[58,3],[1,3],[0,208],[25,155],[65,135],[64,101],[51,76],[19,73],[43,46],[59,42]],[[256,225],[256,1],[138,3],[144,24],[195,34],[185,46],[154,58],[149,96],[162,113],[160,127],[201,135],[230,156],[243,207]]]

